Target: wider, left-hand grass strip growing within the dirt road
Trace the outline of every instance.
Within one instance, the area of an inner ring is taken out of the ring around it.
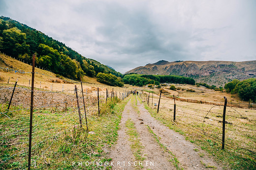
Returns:
[[[131,142],[131,150],[133,155],[135,156],[136,161],[143,161],[145,158],[142,156],[143,146],[138,139],[139,134],[136,131],[134,126],[134,122],[130,119],[126,121],[127,134],[129,136],[129,141]],[[141,167],[142,168],[142,167]]]

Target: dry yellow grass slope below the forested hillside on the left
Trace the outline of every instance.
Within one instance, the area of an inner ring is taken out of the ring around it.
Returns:
[[[19,70],[25,73],[15,73],[15,72],[7,72],[6,70],[0,69],[0,77],[3,77],[3,81],[1,83],[7,83],[9,80],[9,84],[14,84],[17,80],[17,85],[31,87],[31,79],[32,66],[26,63],[23,63],[19,60],[15,60],[14,58],[4,55],[0,53],[0,57],[4,60],[5,64],[0,63],[0,67],[10,68],[14,70]],[[65,81],[71,81],[76,83],[64,83],[63,80],[56,77],[55,73],[51,73],[39,68],[35,68],[35,78],[34,78],[34,87],[42,90],[53,90],[53,91],[70,91],[74,90],[74,85],[77,85],[77,88],[81,90],[81,83],[79,81],[74,81],[68,78],[64,78]],[[96,78],[83,76],[83,89],[84,92],[88,90],[88,93],[91,93],[99,87],[101,91],[101,96],[106,93],[106,89],[112,90],[115,92],[124,92],[127,90],[126,88],[113,87],[97,82]],[[93,88],[94,87],[94,88]],[[96,94],[95,94],[96,95]],[[119,95],[119,94],[118,94]]]

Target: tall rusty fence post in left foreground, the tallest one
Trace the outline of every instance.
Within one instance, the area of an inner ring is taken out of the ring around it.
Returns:
[[[28,170],[31,167],[31,149],[32,149],[32,120],[33,120],[33,97],[34,97],[34,61],[35,55],[32,58],[32,82],[31,82],[31,103],[30,103],[30,137],[29,137],[29,164]]]

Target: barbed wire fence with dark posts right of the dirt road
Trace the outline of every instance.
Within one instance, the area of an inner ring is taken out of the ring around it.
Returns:
[[[256,112],[251,108],[234,107],[227,98],[223,105],[213,105],[180,101],[175,96],[161,98],[155,95],[153,100],[153,95],[145,92],[140,93],[140,97],[145,104],[160,109],[158,114],[173,125],[206,137],[210,146],[220,144],[221,149],[239,150],[243,156],[256,160]]]

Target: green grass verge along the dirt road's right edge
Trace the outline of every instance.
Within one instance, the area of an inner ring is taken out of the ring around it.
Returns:
[[[202,133],[197,133],[191,128],[187,128],[178,121],[176,124],[172,121],[171,116],[166,116],[161,113],[157,113],[157,109],[152,109],[148,105],[144,104],[145,108],[150,112],[150,114],[161,121],[164,125],[170,129],[179,132],[180,134],[186,137],[186,140],[194,143],[197,146],[200,146],[201,149],[207,151],[212,155],[217,162],[221,162],[224,165],[224,169],[234,169],[234,170],[256,170],[256,157],[253,153],[243,154],[243,152],[236,148],[221,149],[221,143],[215,142],[211,138],[203,135]],[[170,111],[169,111],[169,114]],[[201,124],[195,124],[196,127],[202,126]],[[227,140],[231,140],[228,139]],[[204,155],[198,153],[199,156],[203,157]],[[206,166],[207,167],[207,166]]]

